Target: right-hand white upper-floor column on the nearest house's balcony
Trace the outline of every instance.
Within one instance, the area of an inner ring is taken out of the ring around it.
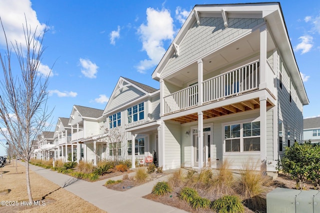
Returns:
[[[260,27],[260,84],[259,89],[267,88],[266,80],[267,80],[267,73],[266,73],[266,40],[267,40],[267,29],[266,24]]]

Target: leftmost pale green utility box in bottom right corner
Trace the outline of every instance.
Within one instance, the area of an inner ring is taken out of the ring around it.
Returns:
[[[267,213],[295,213],[295,198],[301,191],[276,188],[266,194]]]

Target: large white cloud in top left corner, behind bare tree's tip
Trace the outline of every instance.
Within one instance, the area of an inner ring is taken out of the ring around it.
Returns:
[[[22,24],[25,27],[25,18],[28,27],[31,27],[31,32],[36,29],[36,36],[43,34],[45,24],[40,23],[37,19],[36,12],[31,8],[30,0],[0,0],[0,5],[1,20],[6,37],[12,43],[17,41],[18,44],[25,44],[22,28]],[[0,30],[0,45],[5,45],[2,29]]]

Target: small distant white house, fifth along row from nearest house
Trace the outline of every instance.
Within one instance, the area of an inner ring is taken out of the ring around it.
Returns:
[[[54,144],[53,144],[54,132],[43,131],[41,135],[38,136],[37,149],[34,150],[34,158],[41,160],[49,160],[54,156]]]

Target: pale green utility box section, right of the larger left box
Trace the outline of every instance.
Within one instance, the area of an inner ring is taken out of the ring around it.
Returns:
[[[313,198],[319,193],[317,190],[301,191],[295,199],[296,213],[320,213],[313,212]]]

